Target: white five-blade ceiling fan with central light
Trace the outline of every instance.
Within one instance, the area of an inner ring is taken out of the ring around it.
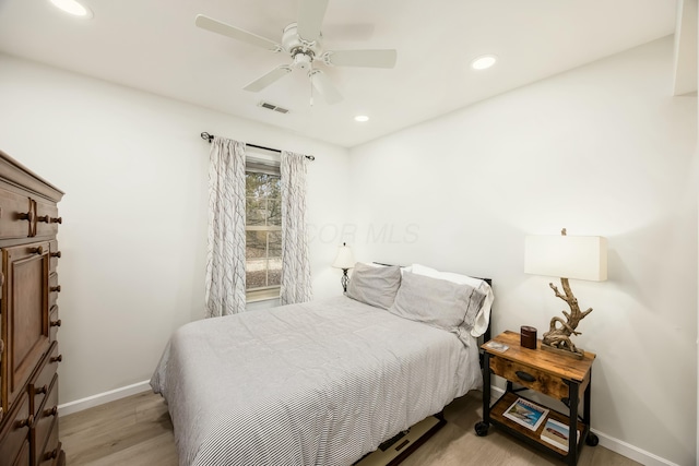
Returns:
[[[394,49],[377,50],[323,50],[321,26],[329,0],[300,0],[298,19],[284,28],[282,44],[257,34],[232,26],[203,14],[197,15],[194,24],[212,33],[264,48],[273,52],[286,52],[292,61],[280,64],[263,76],[245,86],[246,91],[260,92],[291,73],[294,68],[308,72],[312,87],[328,104],[342,100],[342,95],[332,81],[315,64],[334,67],[393,68],[398,53]],[[312,101],[312,100],[311,100]]]

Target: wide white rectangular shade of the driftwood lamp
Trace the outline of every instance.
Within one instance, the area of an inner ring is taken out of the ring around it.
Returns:
[[[524,273],[603,282],[607,279],[607,240],[599,236],[528,236]]]

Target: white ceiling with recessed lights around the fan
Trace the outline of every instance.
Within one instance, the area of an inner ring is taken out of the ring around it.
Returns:
[[[311,107],[300,70],[260,93],[242,89],[288,56],[194,26],[202,13],[280,43],[298,0],[83,3],[93,19],[48,0],[0,0],[0,51],[347,147],[671,35],[677,16],[674,0],[330,0],[324,49],[395,48],[398,63],[324,68],[344,100],[316,96]],[[471,70],[483,53],[498,63]],[[357,113],[370,120],[357,123]]]

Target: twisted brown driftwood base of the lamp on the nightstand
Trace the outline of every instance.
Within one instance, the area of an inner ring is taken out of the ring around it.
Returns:
[[[566,229],[564,228],[560,234],[565,236]],[[580,306],[578,304],[578,298],[573,296],[568,278],[560,278],[560,285],[565,295],[561,295],[553,283],[548,284],[548,286],[554,290],[554,294],[568,303],[570,312],[566,312],[565,310],[562,311],[566,316],[566,321],[559,316],[555,316],[550,320],[548,332],[546,332],[542,338],[542,348],[560,350],[561,353],[565,351],[566,354],[582,359],[584,351],[577,348],[570,337],[571,335],[580,335],[580,332],[577,332],[576,328],[578,328],[580,321],[592,312],[592,308],[588,308],[587,311],[581,312]]]

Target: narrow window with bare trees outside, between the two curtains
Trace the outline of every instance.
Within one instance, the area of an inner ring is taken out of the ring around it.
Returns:
[[[246,291],[248,301],[277,298],[282,282],[279,164],[246,163]]]

